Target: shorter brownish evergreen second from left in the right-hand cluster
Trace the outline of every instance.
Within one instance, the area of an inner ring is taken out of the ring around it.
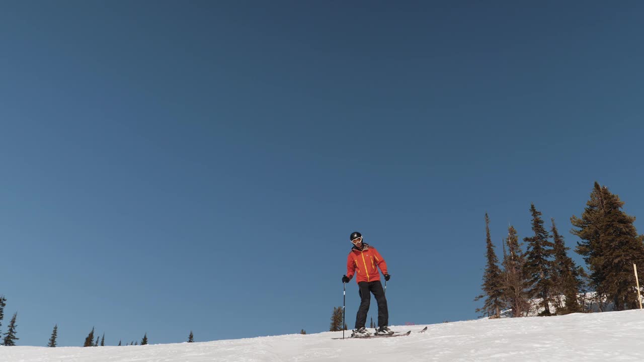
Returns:
[[[506,252],[507,247],[507,252]],[[503,298],[511,307],[514,317],[521,317],[530,306],[527,298],[527,280],[524,274],[526,258],[521,251],[521,244],[512,225],[507,228],[507,238],[503,248]]]

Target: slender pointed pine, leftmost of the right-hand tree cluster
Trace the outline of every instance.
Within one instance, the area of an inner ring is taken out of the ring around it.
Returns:
[[[501,309],[504,307],[503,303],[503,290],[501,269],[498,267],[497,254],[494,252],[494,245],[489,236],[489,217],[485,214],[485,229],[486,229],[486,249],[488,265],[486,266],[483,274],[483,284],[481,289],[483,293],[477,296],[474,300],[486,298],[483,307],[478,308],[477,313],[482,313],[482,316],[493,316],[493,318],[500,318]]]

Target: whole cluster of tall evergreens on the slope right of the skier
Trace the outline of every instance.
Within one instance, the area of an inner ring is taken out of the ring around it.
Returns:
[[[506,310],[514,317],[527,316],[533,309],[531,301],[538,301],[539,316],[588,312],[589,291],[594,291],[600,311],[609,303],[614,310],[638,308],[633,264],[644,265],[644,236],[638,235],[635,218],[623,211],[623,205],[618,195],[595,182],[581,216],[571,217],[571,233],[581,239],[574,251],[583,257],[589,273],[568,256],[570,248],[553,218],[546,230],[535,204],[530,206],[531,236],[521,243],[509,225],[499,263],[486,213],[487,264],[482,293],[475,298],[484,304],[477,313],[500,318]]]

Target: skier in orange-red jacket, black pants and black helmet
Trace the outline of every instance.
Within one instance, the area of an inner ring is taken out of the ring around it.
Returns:
[[[361,299],[360,308],[357,316],[355,316],[355,330],[352,337],[371,335],[365,328],[366,314],[371,301],[370,293],[374,293],[375,301],[378,303],[379,327],[375,330],[375,334],[393,334],[393,331],[387,327],[389,324],[387,300],[384,298],[383,284],[380,282],[380,274],[376,269],[376,266],[379,267],[384,274],[384,280],[389,280],[390,275],[387,272],[387,264],[375,247],[363,242],[362,234],[354,231],[350,235],[350,240],[354,247],[346,259],[346,275],[342,276],[342,282],[348,283],[356,274],[355,281],[358,283],[358,292]]]

